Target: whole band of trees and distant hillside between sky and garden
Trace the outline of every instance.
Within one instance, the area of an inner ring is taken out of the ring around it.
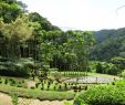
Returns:
[[[119,74],[125,67],[125,28],[62,31],[17,0],[0,1],[0,74],[53,71]],[[43,73],[43,75],[45,75]]]

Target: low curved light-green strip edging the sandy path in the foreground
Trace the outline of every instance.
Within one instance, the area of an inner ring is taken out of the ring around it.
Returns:
[[[62,101],[62,99],[73,99],[75,93],[72,91],[69,92],[55,92],[55,91],[40,91],[40,90],[31,90],[31,88],[22,88],[22,87],[14,87],[1,84],[0,92],[7,93],[9,95],[17,94],[19,97],[25,98],[38,98],[41,101]]]

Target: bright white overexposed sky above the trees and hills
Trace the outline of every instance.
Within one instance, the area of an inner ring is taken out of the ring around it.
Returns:
[[[39,12],[62,30],[97,31],[125,27],[125,0],[21,1],[28,6],[29,12]]]

